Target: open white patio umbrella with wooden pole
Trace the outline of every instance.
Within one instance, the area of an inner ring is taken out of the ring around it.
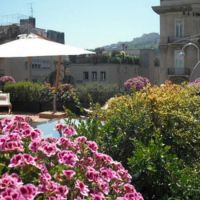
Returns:
[[[61,68],[62,56],[94,54],[94,52],[60,44],[44,39],[36,34],[23,34],[19,39],[0,45],[0,58],[14,57],[40,57],[57,56],[58,64],[56,68],[56,90],[59,86],[59,74]],[[31,59],[29,59],[29,64]],[[55,95],[54,95],[55,97]],[[56,111],[56,99],[54,98],[54,112]]]

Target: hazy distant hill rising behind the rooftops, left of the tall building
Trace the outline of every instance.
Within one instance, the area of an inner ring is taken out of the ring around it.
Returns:
[[[143,34],[141,37],[133,38],[132,41],[118,42],[104,46],[105,50],[125,50],[125,49],[157,49],[160,35],[158,33]]]

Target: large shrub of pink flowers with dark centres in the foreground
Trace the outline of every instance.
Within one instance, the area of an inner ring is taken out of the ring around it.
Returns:
[[[62,137],[43,139],[27,120],[0,122],[0,199],[143,200],[127,170],[95,142],[62,124]]]

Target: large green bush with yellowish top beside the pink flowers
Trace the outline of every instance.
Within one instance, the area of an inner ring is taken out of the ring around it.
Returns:
[[[101,150],[129,167],[145,199],[200,197],[200,96],[198,88],[166,83],[114,98],[94,111]],[[96,128],[95,128],[96,127]],[[94,137],[91,133],[90,137]]]

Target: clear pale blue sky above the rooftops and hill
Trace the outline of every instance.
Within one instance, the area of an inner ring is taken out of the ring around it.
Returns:
[[[159,16],[151,9],[159,0],[2,0],[0,23],[14,20],[15,14],[30,15],[30,3],[37,27],[65,32],[66,43],[77,47],[159,32]]]

